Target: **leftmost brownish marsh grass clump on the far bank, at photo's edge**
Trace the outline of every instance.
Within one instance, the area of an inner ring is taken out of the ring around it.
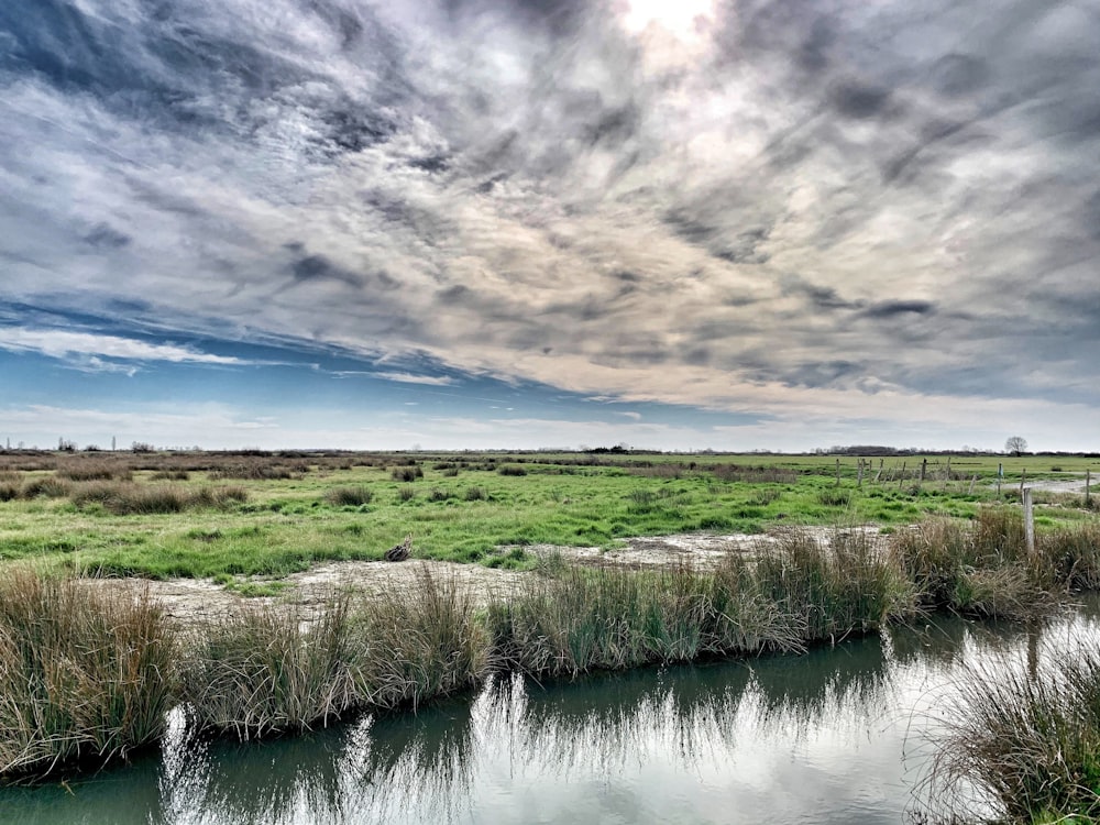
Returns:
[[[142,591],[0,576],[0,776],[103,763],[155,741],[174,702],[174,634]]]

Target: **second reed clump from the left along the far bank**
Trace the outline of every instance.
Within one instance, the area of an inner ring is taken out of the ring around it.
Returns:
[[[314,616],[241,607],[199,628],[187,650],[179,682],[190,718],[241,739],[366,707],[415,707],[477,684],[492,660],[470,594],[427,569],[411,592],[343,592]]]

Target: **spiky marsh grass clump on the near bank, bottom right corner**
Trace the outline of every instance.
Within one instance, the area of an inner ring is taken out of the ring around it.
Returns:
[[[948,733],[924,791],[953,822],[988,822],[970,810],[974,791],[996,822],[1100,821],[1100,651],[1081,646],[1049,668],[1020,662],[971,667],[956,686]]]

